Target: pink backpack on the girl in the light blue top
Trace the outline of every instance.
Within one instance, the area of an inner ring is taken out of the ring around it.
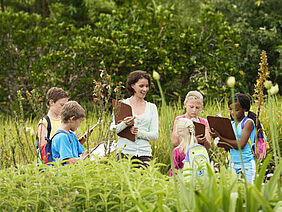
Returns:
[[[242,121],[242,130],[245,126],[245,122],[248,120],[248,117],[245,117]],[[248,140],[252,152],[254,154],[254,156],[256,156],[258,159],[264,159],[266,156],[266,150],[269,149],[269,145],[267,142],[267,138],[263,133],[263,127],[261,125],[261,128],[258,130],[258,134],[257,134],[257,140],[256,142],[252,142],[251,139],[249,138]]]

